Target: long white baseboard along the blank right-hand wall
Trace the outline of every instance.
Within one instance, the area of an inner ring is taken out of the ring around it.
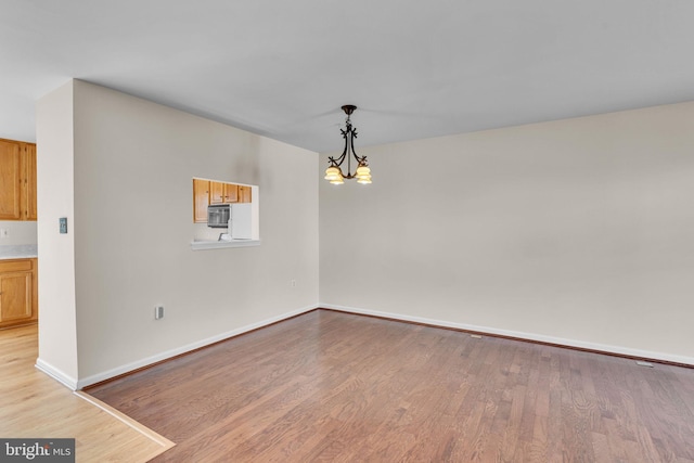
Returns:
[[[319,307],[342,312],[358,313],[363,316],[382,317],[387,319],[400,320],[406,322],[422,323],[434,326],[451,327],[462,331],[474,331],[479,333],[494,334],[505,337],[516,337],[519,339],[536,340],[538,343],[549,343],[558,346],[576,347],[579,349],[595,350],[605,353],[616,353],[619,356],[633,357],[640,359],[660,360],[664,362],[680,363],[694,366],[694,357],[677,356],[664,352],[654,352],[650,350],[631,349],[628,347],[612,346],[606,344],[587,343],[576,339],[566,339],[562,337],[545,336],[535,333],[525,333],[518,331],[499,330],[489,326],[477,326],[465,323],[454,323],[444,320],[426,319],[422,317],[403,316],[400,313],[381,312],[377,310],[360,309],[356,307],[338,306],[334,304],[321,304]]]

